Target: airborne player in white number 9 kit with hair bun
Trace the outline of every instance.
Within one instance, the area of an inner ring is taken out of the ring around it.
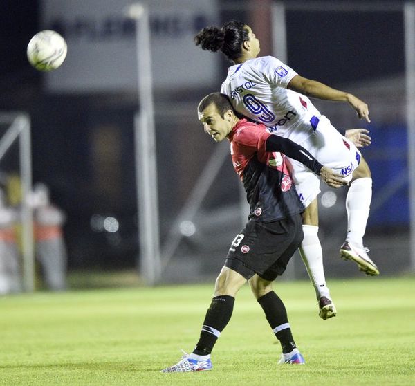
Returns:
[[[320,163],[337,170],[350,181],[346,200],[347,237],[340,248],[340,256],[356,261],[367,275],[378,275],[376,264],[363,246],[371,202],[369,166],[353,142],[342,136],[306,95],[348,102],[359,118],[370,122],[367,104],[350,93],[301,77],[275,57],[257,57],[259,41],[251,28],[241,21],[230,21],[222,28],[203,28],[196,35],[195,43],[204,50],[221,50],[234,63],[221,87],[234,109],[264,123],[270,132],[299,143]],[[293,160],[292,165],[296,189],[306,207],[300,255],[315,287],[320,317],[325,320],[335,316],[336,310],[326,286],[322,247],[317,235],[320,182],[296,161]]]

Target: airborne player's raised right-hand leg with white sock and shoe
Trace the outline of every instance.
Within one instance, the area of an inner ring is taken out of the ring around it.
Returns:
[[[353,172],[353,179],[347,192],[347,237],[340,248],[340,255],[343,259],[356,261],[359,269],[367,275],[378,275],[378,267],[367,255],[367,248],[363,246],[371,195],[371,172],[362,157],[359,166]]]

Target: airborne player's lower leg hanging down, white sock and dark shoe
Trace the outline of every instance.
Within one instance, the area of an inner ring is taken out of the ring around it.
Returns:
[[[315,289],[319,306],[319,316],[323,320],[333,318],[337,311],[331,299],[324,275],[323,251],[318,238],[318,204],[313,199],[302,215],[304,239],[299,247],[299,255],[306,266],[308,276]]]

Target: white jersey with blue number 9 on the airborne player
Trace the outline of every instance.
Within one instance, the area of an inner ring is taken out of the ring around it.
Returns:
[[[271,133],[302,143],[317,128],[321,114],[305,95],[287,89],[295,75],[275,57],[257,57],[231,66],[221,93],[235,110]]]

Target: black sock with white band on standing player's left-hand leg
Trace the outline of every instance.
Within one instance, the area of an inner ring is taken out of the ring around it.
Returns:
[[[212,352],[216,340],[221,335],[222,330],[230,321],[232,316],[235,298],[228,295],[216,296],[205,316],[201,337],[196,344],[193,353],[197,355],[208,355]]]

